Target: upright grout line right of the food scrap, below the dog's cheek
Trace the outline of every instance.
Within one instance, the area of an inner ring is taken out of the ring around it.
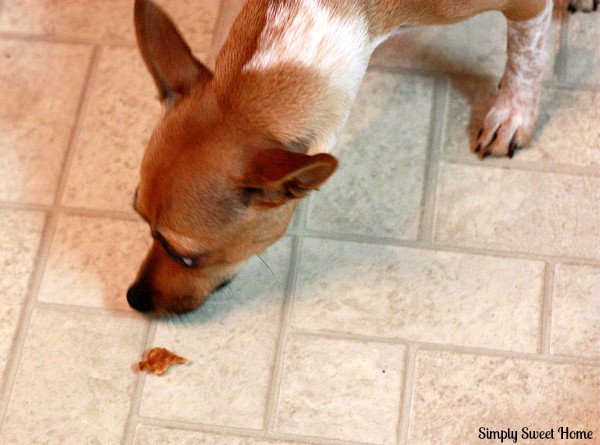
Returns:
[[[264,430],[267,434],[275,429],[275,416],[277,410],[277,400],[281,389],[283,379],[283,365],[285,361],[285,348],[287,344],[287,335],[290,330],[292,316],[293,299],[298,282],[298,271],[300,268],[300,257],[302,252],[302,237],[294,236],[291,252],[290,271],[287,279],[287,286],[284,292],[283,307],[281,309],[279,337],[275,347],[275,357],[271,372],[270,385],[267,392],[267,403],[265,406]]]

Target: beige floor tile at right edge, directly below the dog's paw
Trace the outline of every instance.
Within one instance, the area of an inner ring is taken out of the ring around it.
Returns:
[[[598,178],[442,164],[436,201],[437,243],[600,258]]]

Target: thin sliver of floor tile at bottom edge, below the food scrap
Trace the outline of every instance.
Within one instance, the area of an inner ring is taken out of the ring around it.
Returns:
[[[199,431],[181,431],[140,425],[135,432],[133,445],[302,445],[300,442],[253,439],[225,436]]]

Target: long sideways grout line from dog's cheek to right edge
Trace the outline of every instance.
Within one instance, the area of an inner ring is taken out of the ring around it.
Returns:
[[[492,258],[518,259],[527,261],[556,262],[561,264],[573,264],[580,266],[600,267],[600,259],[585,257],[567,257],[559,255],[546,255],[534,252],[519,252],[513,250],[496,250],[502,247],[485,248],[463,245],[450,245],[441,243],[423,243],[414,240],[403,240],[399,238],[386,238],[377,236],[358,235],[353,233],[335,233],[325,231],[308,230],[304,234],[306,238],[327,241],[346,241],[351,243],[374,244],[405,249],[419,249],[434,252],[451,252],[468,255],[480,255]]]

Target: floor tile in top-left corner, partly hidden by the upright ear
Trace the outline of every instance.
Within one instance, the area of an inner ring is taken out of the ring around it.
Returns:
[[[5,0],[0,30],[78,39],[98,43],[135,44],[133,1]],[[194,47],[210,45],[218,0],[159,0]]]

